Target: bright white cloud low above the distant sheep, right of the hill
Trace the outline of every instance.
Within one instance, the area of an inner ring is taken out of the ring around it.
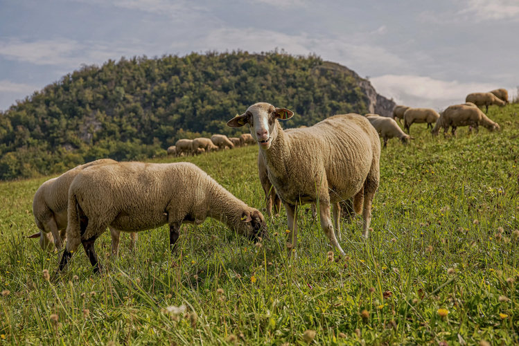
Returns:
[[[418,75],[381,75],[371,78],[376,91],[398,104],[443,109],[465,102],[469,93],[498,89],[497,84],[434,80]],[[509,95],[513,95],[509,91]]]

